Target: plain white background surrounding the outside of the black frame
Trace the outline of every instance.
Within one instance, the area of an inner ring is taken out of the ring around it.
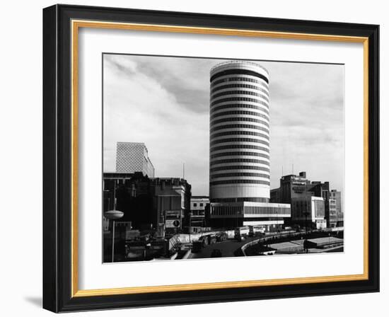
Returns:
[[[388,263],[388,234],[383,233],[386,217],[385,196],[389,195],[384,178],[388,166],[388,110],[385,110],[385,87],[388,81],[389,25],[385,1],[61,1],[69,4],[117,6],[168,11],[190,11],[234,15],[298,18],[318,21],[373,23],[381,25],[381,267]],[[54,1],[7,1],[1,6],[1,314],[48,316],[41,306],[42,293],[42,8]],[[386,119],[386,120],[385,120]],[[91,316],[237,316],[258,313],[279,316],[369,316],[376,311],[385,315],[389,299],[388,275],[381,271],[380,294],[356,294],[245,301],[228,304],[170,306],[133,311],[83,313]],[[282,309],[281,309],[282,307]],[[323,309],[325,307],[325,309]],[[71,313],[69,316],[74,315]],[[80,316],[80,315],[78,315]]]

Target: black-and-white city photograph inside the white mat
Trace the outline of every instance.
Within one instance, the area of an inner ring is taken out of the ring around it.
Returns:
[[[103,54],[103,262],[344,252],[344,64]]]

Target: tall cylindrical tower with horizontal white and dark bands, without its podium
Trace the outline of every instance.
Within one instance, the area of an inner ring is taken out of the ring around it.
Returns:
[[[210,76],[211,202],[269,202],[269,74],[230,61]]]

